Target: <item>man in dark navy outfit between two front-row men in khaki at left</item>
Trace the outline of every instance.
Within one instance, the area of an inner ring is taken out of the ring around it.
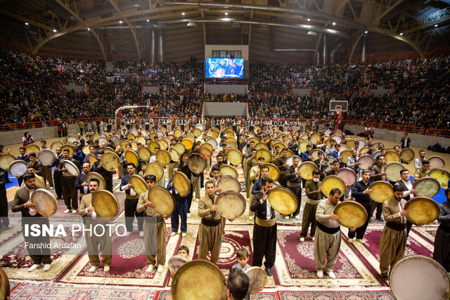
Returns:
[[[139,235],[143,237],[143,214],[136,211],[139,195],[133,190],[134,185],[129,183],[129,178],[134,175],[135,172],[136,167],[132,162],[129,162],[127,164],[127,174],[122,176],[122,181],[120,182],[120,190],[125,191],[125,225],[127,226],[127,233],[125,233],[125,236],[129,236],[133,233],[134,216],[136,216],[136,219],[138,219]]]

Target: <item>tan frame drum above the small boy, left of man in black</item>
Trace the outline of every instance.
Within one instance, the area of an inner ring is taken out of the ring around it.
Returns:
[[[236,219],[245,213],[247,201],[243,195],[233,190],[227,190],[217,196],[217,214],[226,219]]]

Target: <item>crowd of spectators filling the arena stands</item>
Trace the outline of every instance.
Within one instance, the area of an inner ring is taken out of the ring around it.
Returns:
[[[248,101],[250,117],[330,119],[329,100],[348,100],[345,119],[449,129],[450,58],[323,66],[250,63],[248,95],[205,94],[204,65],[45,58],[0,51],[0,124],[113,117],[200,117],[203,101]],[[67,84],[84,91],[65,89]],[[160,95],[143,93],[159,86]],[[306,87],[314,96],[292,96]],[[369,89],[390,89],[372,95]],[[318,96],[320,95],[320,96]]]

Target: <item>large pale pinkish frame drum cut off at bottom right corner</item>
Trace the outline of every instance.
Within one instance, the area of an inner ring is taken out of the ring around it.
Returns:
[[[449,299],[450,277],[434,259],[411,255],[390,271],[389,285],[398,300]]]

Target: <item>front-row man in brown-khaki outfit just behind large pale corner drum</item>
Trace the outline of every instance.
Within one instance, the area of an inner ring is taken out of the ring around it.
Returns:
[[[380,271],[383,280],[389,280],[387,272],[403,258],[406,248],[406,216],[410,210],[404,210],[403,187],[394,185],[394,195],[383,202],[383,215],[386,224],[380,238]]]

